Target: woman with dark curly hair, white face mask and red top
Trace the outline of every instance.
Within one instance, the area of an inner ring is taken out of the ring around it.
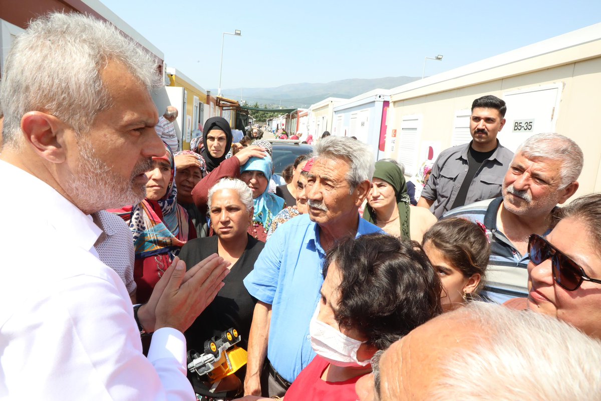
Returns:
[[[441,283],[418,243],[385,234],[347,239],[328,252],[311,320],[317,353],[286,401],[354,401],[377,350],[442,312]],[[244,400],[258,399],[247,396]],[[267,400],[267,399],[266,399]]]

